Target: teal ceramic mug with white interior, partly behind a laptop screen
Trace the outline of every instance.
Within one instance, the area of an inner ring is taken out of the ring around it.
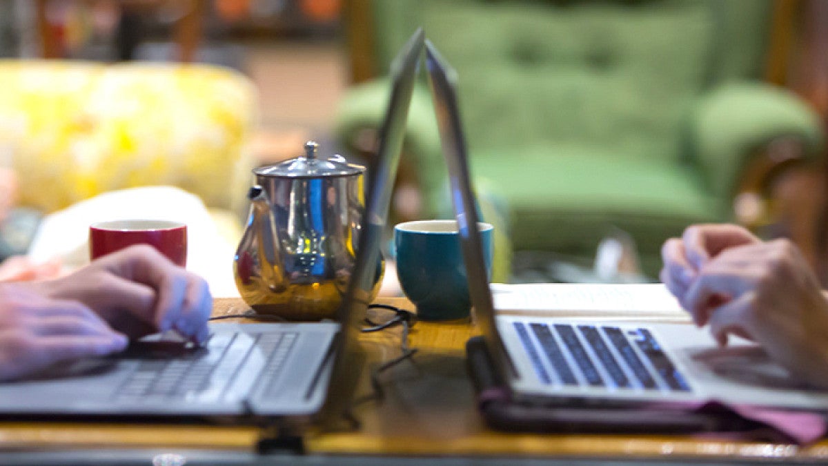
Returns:
[[[492,277],[493,227],[479,223],[486,275]],[[469,317],[471,299],[460,234],[453,220],[407,221],[394,227],[397,278],[423,320]]]

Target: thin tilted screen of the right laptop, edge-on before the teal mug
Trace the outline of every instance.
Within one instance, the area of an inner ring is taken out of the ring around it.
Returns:
[[[479,216],[469,174],[465,135],[460,124],[460,109],[455,90],[457,73],[440,56],[431,41],[426,41],[426,66],[437,126],[440,129],[443,156],[449,171],[451,201],[455,208],[457,226],[460,231],[460,246],[463,250],[469,280],[469,297],[493,363],[501,374],[507,374],[509,372],[504,370],[511,364],[503,351],[503,342],[495,326],[494,305],[489,291],[489,278],[486,274],[483,242],[476,228]]]

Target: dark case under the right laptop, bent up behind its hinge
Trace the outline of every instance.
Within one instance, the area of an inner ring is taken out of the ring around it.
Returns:
[[[512,399],[493,369],[483,337],[466,342],[466,363],[480,413],[495,430],[537,433],[694,434],[752,430],[758,423],[716,413],[529,405]]]

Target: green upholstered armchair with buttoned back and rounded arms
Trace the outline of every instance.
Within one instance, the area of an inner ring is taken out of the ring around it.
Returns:
[[[375,0],[356,26],[371,32],[375,69],[387,70],[421,25],[458,70],[471,169],[508,206],[502,218],[514,250],[591,259],[617,227],[655,276],[668,237],[691,223],[735,220],[734,197],[768,144],[784,138],[800,158],[821,157],[817,115],[761,82],[771,5]],[[368,80],[345,95],[336,124],[345,148],[370,146],[365,135],[382,117],[387,89]],[[445,167],[424,83],[408,123],[405,176],[420,192],[416,215],[445,215]]]

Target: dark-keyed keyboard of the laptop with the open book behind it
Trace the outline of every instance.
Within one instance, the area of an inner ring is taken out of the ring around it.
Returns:
[[[647,328],[513,323],[544,384],[690,392]]]

